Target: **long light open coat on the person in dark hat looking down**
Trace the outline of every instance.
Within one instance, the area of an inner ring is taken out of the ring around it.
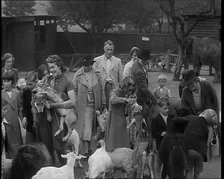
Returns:
[[[105,92],[102,86],[102,79],[99,71],[93,70],[93,93],[95,99],[95,110],[99,109],[102,105],[105,105]],[[87,105],[87,94],[88,94],[88,82],[86,81],[83,68],[79,69],[73,78],[74,91],[76,94],[76,107],[78,114],[78,121],[76,123],[75,129],[79,134],[80,139],[82,139],[82,126],[85,118],[85,107]],[[93,130],[96,127],[96,118],[93,121]]]

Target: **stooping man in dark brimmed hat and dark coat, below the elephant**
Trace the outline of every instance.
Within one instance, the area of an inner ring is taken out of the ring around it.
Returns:
[[[211,84],[200,81],[193,69],[183,73],[183,85],[181,106],[191,111],[193,115],[199,115],[206,109],[213,109],[219,114],[219,103],[216,92]]]

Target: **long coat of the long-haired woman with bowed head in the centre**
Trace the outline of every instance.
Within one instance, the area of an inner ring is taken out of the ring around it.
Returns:
[[[114,89],[110,95],[109,120],[105,138],[107,151],[120,147],[130,148],[124,96],[121,88]]]

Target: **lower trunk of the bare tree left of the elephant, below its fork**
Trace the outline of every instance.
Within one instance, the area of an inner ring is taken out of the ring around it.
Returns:
[[[181,45],[178,45],[178,59],[173,73],[173,81],[179,81],[182,65],[183,65],[183,49],[181,48]]]

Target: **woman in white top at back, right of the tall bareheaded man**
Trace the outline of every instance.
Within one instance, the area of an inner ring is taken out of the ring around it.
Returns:
[[[131,51],[130,51],[131,60],[128,63],[126,63],[124,66],[123,78],[131,75],[132,65],[138,60],[139,52],[140,52],[140,49],[138,47],[131,48]]]

